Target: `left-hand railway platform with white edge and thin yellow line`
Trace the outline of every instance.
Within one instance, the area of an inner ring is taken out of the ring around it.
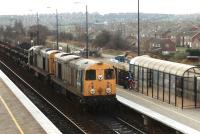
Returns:
[[[1,70],[0,133],[61,133]]]

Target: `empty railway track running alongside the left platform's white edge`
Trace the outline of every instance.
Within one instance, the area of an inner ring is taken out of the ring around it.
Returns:
[[[69,129],[73,128],[73,130],[71,130],[72,133],[87,133],[83,128],[76,125],[73,120],[63,114],[56,106],[44,98],[39,92],[37,92],[37,90],[35,90],[2,61],[0,61],[0,67],[4,73],[6,73],[6,75],[8,75],[9,78],[28,96],[28,98],[31,99],[35,105],[37,105],[37,107],[40,105],[38,108],[40,110],[42,109],[42,112],[45,112],[45,115],[47,115],[51,121],[53,120],[54,124],[59,124],[57,127],[61,130],[61,132],[70,132]]]

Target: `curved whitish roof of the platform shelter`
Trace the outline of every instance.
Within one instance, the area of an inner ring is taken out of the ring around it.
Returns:
[[[131,59],[130,64],[181,77],[200,77],[200,67],[151,58],[148,55]]]

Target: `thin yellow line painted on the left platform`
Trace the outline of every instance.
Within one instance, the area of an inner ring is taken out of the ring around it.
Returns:
[[[19,132],[21,134],[24,134],[23,130],[21,129],[20,125],[18,124],[17,120],[15,119],[14,115],[12,114],[11,110],[9,109],[8,105],[6,104],[6,102],[4,101],[4,99],[0,96],[0,100],[3,103],[3,105],[5,106],[6,110],[8,111],[10,117],[12,118],[13,122],[15,123],[15,125],[17,126]]]

